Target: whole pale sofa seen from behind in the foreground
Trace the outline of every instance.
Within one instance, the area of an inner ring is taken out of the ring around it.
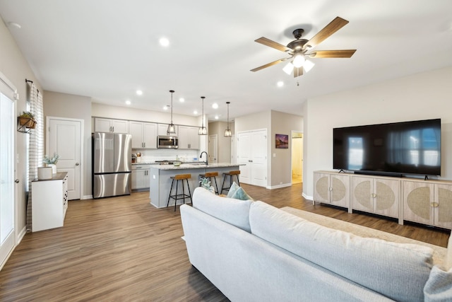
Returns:
[[[362,238],[203,187],[180,211],[191,264],[231,301],[452,301],[452,259],[435,265],[426,246]]]

